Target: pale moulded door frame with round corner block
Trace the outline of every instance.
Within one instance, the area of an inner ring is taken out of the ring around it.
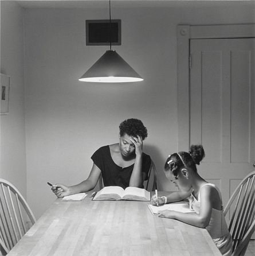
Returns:
[[[177,26],[178,151],[190,148],[190,40],[210,38],[255,38],[255,24]]]

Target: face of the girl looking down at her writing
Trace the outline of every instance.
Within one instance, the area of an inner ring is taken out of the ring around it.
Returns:
[[[179,190],[184,192],[189,192],[191,189],[191,184],[187,177],[189,177],[189,172],[186,169],[179,170],[178,176],[174,176],[171,170],[164,172],[168,180],[172,181]]]

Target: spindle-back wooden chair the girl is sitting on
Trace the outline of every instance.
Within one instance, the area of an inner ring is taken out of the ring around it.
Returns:
[[[229,214],[233,239],[232,256],[245,255],[255,228],[255,171],[247,175],[230,197],[224,210]]]

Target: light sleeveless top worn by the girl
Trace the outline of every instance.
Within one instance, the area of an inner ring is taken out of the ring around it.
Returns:
[[[205,185],[213,186],[218,191],[219,197],[221,199],[221,210],[216,210],[213,208],[213,211],[211,212],[210,223],[206,227],[206,230],[209,232],[209,234],[213,238],[214,243],[217,245],[217,247],[221,251],[222,255],[225,255],[225,256],[231,255],[231,253],[232,253],[232,237],[227,228],[225,216],[223,214],[221,192],[214,184],[207,183]],[[203,186],[205,186],[205,185],[203,185]],[[190,202],[190,208],[193,209],[197,214],[199,214],[200,202],[201,202],[200,201],[200,191],[198,193],[198,200],[195,199],[193,193],[191,193],[191,196],[188,197],[188,199]]]

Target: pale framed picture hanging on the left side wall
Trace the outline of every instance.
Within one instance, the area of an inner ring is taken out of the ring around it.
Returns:
[[[1,73],[1,115],[9,113],[10,76]]]

